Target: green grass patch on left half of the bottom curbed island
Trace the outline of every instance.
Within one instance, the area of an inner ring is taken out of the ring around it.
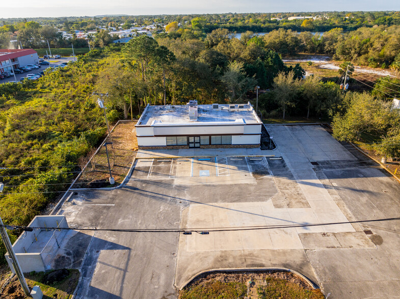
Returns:
[[[179,299],[236,299],[244,298],[246,294],[247,286],[244,283],[211,280],[184,288],[179,292]]]

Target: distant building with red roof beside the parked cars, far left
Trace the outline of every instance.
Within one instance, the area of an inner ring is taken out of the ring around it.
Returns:
[[[38,53],[33,49],[0,49],[0,72],[39,63]]]

